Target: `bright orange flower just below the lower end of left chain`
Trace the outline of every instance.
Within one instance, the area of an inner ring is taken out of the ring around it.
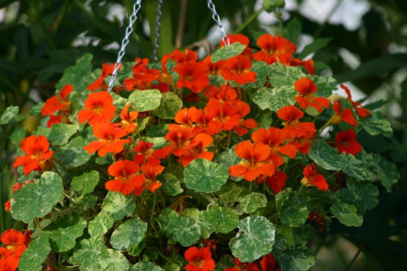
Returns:
[[[113,98],[108,92],[91,93],[85,100],[84,108],[78,113],[78,121],[89,121],[92,126],[97,122],[109,122],[116,111]]]

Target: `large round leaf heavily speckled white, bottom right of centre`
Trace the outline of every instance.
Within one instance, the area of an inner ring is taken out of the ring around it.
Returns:
[[[276,227],[261,216],[250,216],[239,222],[239,233],[230,240],[232,254],[242,262],[252,262],[273,249]]]

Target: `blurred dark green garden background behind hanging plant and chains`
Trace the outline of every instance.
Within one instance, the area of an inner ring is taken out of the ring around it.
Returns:
[[[266,1],[266,0],[265,0]],[[159,56],[176,47],[203,54],[220,36],[205,0],[164,0]],[[317,38],[330,38],[312,55],[318,74],[346,82],[358,99],[385,103],[394,136],[358,134],[368,152],[379,152],[398,166],[401,179],[392,193],[382,188],[379,205],[365,215],[360,228],[337,223],[317,232],[310,242],[316,252],[313,270],[404,270],[407,264],[407,1],[286,0],[279,13],[267,13],[258,0],[213,1],[227,33],[243,33],[255,47],[265,33],[297,37],[299,52]],[[272,0],[266,2],[273,2]],[[275,2],[275,1],[274,1]],[[278,2],[278,1],[277,1]],[[39,120],[28,116],[34,104],[53,95],[66,68],[84,52],[94,67],[114,62],[128,24],[133,1],[26,0],[0,1],[0,113],[18,105],[14,123],[0,129],[0,202],[16,182],[12,167],[18,127],[31,132]],[[156,0],[143,0],[124,59],[152,59]],[[282,17],[283,25],[276,16]],[[281,26],[283,28],[281,28]],[[151,30],[150,30],[151,29]],[[199,49],[200,48],[200,49]],[[304,55],[305,56],[305,55]],[[308,56],[309,57],[309,56]],[[377,142],[381,142],[378,144]],[[385,143],[383,143],[385,142]],[[0,210],[0,232],[14,221]]]

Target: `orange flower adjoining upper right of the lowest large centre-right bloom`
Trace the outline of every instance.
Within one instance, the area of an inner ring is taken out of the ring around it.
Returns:
[[[275,127],[269,127],[269,129],[260,128],[253,132],[251,139],[254,142],[261,142],[270,147],[268,160],[271,161],[275,167],[279,167],[284,163],[284,159],[278,153],[290,158],[296,157],[297,148],[294,145],[286,144],[280,146],[287,139],[287,133],[281,129]]]

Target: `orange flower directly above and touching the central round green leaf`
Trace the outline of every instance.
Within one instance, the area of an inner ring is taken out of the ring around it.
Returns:
[[[186,147],[189,151],[189,154],[183,155],[178,159],[178,162],[182,163],[186,167],[196,158],[206,159],[212,161],[213,153],[208,152],[207,146],[212,144],[213,138],[207,134],[197,134]]]

